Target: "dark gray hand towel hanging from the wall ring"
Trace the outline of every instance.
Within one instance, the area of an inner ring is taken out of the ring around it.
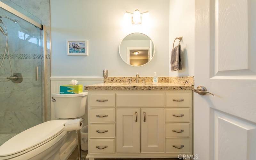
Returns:
[[[182,52],[180,44],[172,49],[171,71],[182,70]]]

